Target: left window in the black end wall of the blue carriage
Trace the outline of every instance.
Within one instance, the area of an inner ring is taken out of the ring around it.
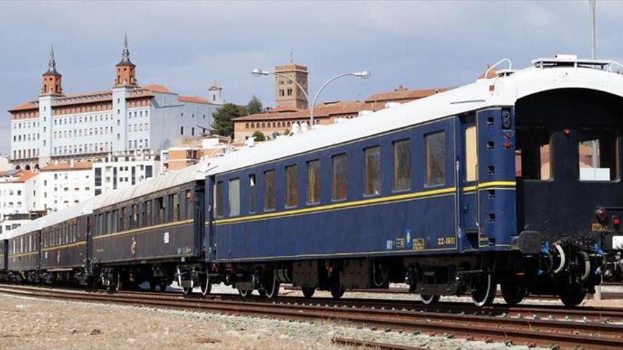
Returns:
[[[551,179],[551,130],[518,127],[515,138],[515,176],[525,180]]]

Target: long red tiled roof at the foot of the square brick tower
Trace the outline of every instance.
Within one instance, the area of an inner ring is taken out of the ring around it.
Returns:
[[[353,115],[362,110],[382,110],[384,105],[373,105],[372,103],[365,103],[361,101],[340,101],[336,103],[323,103],[314,107],[314,117],[339,117],[341,115]],[[268,112],[258,113],[255,115],[246,115],[244,117],[238,117],[234,119],[236,122],[251,121],[251,120],[277,120],[277,119],[302,119],[309,117],[309,110],[299,110],[297,112]]]

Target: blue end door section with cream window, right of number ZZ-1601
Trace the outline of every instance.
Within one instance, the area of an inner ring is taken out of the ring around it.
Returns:
[[[506,249],[516,234],[513,112],[481,110],[463,121],[462,249]]]

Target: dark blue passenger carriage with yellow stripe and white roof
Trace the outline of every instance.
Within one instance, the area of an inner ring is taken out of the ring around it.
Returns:
[[[486,305],[501,284],[510,304],[577,305],[621,264],[602,266],[623,239],[623,78],[607,64],[538,59],[222,158],[207,177],[212,275],[243,296],[407,282],[426,303]]]

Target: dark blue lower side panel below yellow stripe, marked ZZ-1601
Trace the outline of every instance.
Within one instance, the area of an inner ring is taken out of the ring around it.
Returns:
[[[217,226],[217,259],[417,252],[412,244],[417,238],[423,239],[425,250],[443,248],[446,250],[442,252],[456,252],[452,249],[455,215],[448,210],[454,204],[455,195],[450,194],[409,202],[224,224]],[[451,249],[447,250],[449,247]]]

